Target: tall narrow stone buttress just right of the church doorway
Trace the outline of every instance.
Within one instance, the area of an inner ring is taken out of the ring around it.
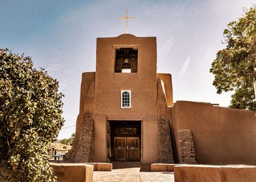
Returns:
[[[159,136],[159,162],[173,163],[172,143],[170,138],[170,127],[168,116],[159,116],[158,119]]]

